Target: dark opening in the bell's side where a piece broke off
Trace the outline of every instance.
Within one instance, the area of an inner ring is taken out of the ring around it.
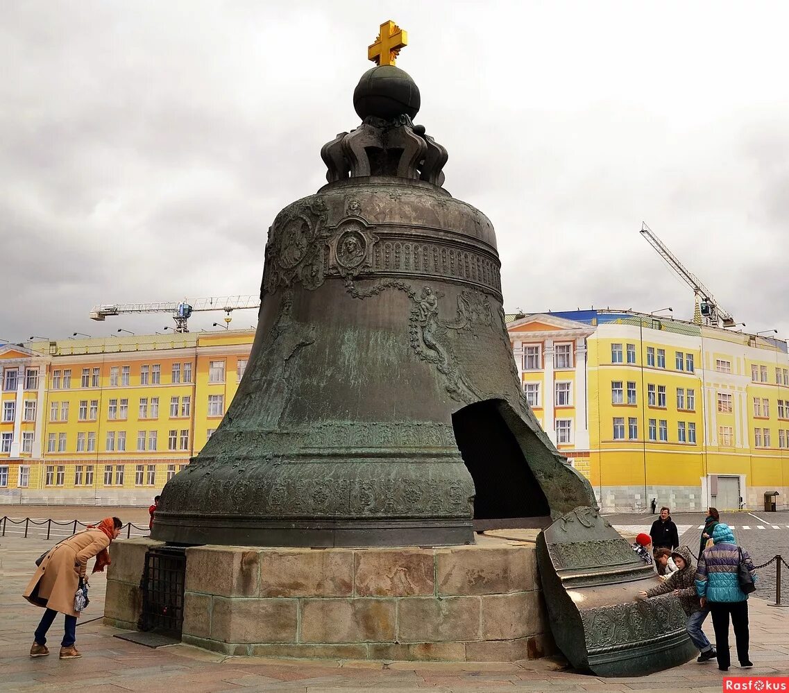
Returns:
[[[503,400],[475,402],[452,415],[454,438],[477,490],[474,529],[547,526],[548,499],[525,458],[533,434],[519,431],[516,437],[502,408],[509,409],[508,418],[515,415]]]

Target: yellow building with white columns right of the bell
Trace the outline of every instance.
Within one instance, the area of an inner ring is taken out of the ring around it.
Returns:
[[[604,511],[761,509],[773,490],[789,507],[786,342],[630,311],[508,329],[526,397]]]

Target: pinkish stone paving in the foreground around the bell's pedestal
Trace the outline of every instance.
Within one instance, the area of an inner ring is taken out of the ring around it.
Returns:
[[[185,645],[150,649],[114,638],[120,631],[101,624],[103,574],[91,579],[91,604],[77,627],[80,661],[57,657],[62,618],[50,629],[53,654],[31,659],[28,650],[41,610],[21,593],[36,557],[51,542],[0,538],[0,691],[288,691],[288,693],[424,693],[451,691],[666,691],[712,693],[723,674],[714,662],[690,661],[666,672],[626,679],[603,679],[560,669],[554,661],[513,663],[294,661],[223,657]],[[97,619],[97,620],[92,620]],[[708,635],[712,628],[708,622]],[[732,636],[733,637],[733,636]],[[789,609],[750,600],[750,655],[754,668],[736,667],[731,676],[789,675]],[[733,639],[732,639],[733,642]]]

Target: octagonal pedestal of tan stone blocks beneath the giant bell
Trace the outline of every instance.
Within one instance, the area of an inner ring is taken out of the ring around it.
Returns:
[[[533,542],[477,539],[440,549],[187,549],[183,642],[276,658],[515,661],[551,654]],[[114,545],[106,624],[136,628],[144,553],[160,545]]]

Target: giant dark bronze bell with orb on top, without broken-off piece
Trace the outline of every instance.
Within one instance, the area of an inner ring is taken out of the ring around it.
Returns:
[[[525,403],[493,227],[442,187],[417,85],[381,65],[353,102],[361,125],[321,151],[328,184],[269,229],[249,365],[155,538],[463,544],[475,519],[594,502]]]

